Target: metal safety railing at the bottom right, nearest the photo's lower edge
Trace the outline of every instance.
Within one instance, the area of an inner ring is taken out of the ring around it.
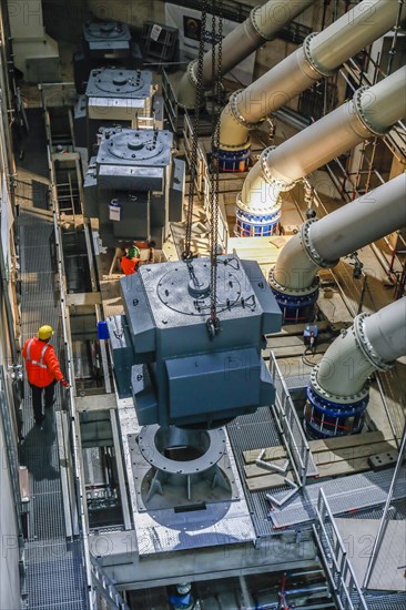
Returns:
[[[313,531],[339,610],[368,610],[323,489],[318,492]]]

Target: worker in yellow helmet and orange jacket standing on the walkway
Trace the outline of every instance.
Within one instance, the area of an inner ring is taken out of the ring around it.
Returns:
[[[45,408],[51,408],[57,382],[69,387],[60,369],[57,354],[49,344],[52,335],[51,326],[41,326],[37,337],[27,339],[22,348],[28,382],[32,390],[34,419],[38,425],[41,425],[45,417],[42,413],[42,394],[45,395]]]

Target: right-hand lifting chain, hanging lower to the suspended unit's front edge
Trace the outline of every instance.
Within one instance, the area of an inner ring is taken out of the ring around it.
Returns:
[[[220,332],[217,318],[217,255],[222,250],[219,243],[219,148],[220,148],[220,109],[222,103],[222,53],[223,53],[223,18],[222,0],[212,0],[212,75],[213,75],[213,129],[212,129],[212,157],[210,172],[210,319],[207,321],[210,336],[213,337]],[[216,10],[217,9],[217,10]],[[219,14],[216,27],[215,14]],[[216,40],[219,41],[216,43]],[[216,43],[216,44],[215,44]]]

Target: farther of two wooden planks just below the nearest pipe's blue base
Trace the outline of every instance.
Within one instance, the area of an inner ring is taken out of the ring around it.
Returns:
[[[359,447],[362,445],[369,445],[373,443],[383,443],[386,440],[393,440],[394,437],[390,431],[380,431],[376,430],[374,433],[364,433],[359,435],[348,435],[339,436],[335,438],[319,439],[319,440],[309,440],[308,446],[312,454],[317,454],[319,451],[327,451],[335,449],[343,449],[345,447]],[[250,451],[244,451],[245,464],[254,464],[256,458],[260,456],[260,449],[251,449]],[[286,451],[282,445],[276,447],[266,447],[265,454],[263,455],[263,460],[274,460],[277,458],[285,457]]]

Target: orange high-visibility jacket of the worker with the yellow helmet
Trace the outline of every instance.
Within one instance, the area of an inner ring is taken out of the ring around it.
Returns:
[[[49,343],[38,337],[27,339],[22,348],[26,360],[26,370],[30,384],[37,387],[47,387],[54,379],[63,379],[57,354]]]

